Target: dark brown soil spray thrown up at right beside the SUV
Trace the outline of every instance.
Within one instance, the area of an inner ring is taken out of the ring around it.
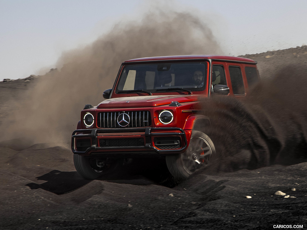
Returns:
[[[307,67],[289,65],[255,86],[243,100],[203,102],[212,119],[217,171],[255,169],[307,160]]]

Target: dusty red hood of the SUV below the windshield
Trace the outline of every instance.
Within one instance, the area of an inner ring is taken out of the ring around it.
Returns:
[[[97,108],[130,108],[130,107],[153,107],[159,105],[168,105],[171,102],[195,102],[200,95],[152,95],[136,96],[124,98],[111,98],[101,102]]]

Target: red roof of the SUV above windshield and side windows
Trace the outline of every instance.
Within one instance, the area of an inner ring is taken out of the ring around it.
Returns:
[[[256,64],[252,59],[243,57],[233,57],[233,56],[222,56],[222,55],[180,55],[180,56],[160,56],[160,57],[145,57],[136,58],[125,61],[127,62],[147,62],[147,61],[163,61],[163,60],[192,60],[192,59],[212,59],[212,60],[225,60],[232,62],[248,62],[251,64]]]

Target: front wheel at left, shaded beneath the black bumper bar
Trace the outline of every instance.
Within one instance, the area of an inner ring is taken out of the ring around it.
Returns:
[[[76,171],[86,180],[111,174],[120,165],[119,159],[87,157],[74,154]]]

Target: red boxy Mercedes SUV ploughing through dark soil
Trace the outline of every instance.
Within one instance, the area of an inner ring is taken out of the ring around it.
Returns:
[[[85,105],[72,133],[77,172],[85,179],[110,173],[123,159],[164,157],[184,180],[215,154],[200,101],[215,94],[244,97],[258,82],[256,62],[193,55],[139,58],[122,63],[99,105]]]

